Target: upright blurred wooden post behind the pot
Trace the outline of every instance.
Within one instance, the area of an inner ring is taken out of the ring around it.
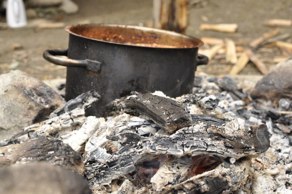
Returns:
[[[153,0],[154,28],[184,33],[188,26],[187,0]]]

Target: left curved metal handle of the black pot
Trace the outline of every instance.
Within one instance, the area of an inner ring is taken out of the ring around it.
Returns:
[[[88,71],[100,73],[101,63],[99,61],[94,61],[94,60],[89,60],[89,59],[75,60],[75,59],[58,57],[58,56],[67,56],[67,54],[68,54],[67,49],[54,49],[54,50],[44,51],[43,57],[47,61],[54,63],[56,65],[62,65],[66,67],[81,67],[81,68],[85,68]]]

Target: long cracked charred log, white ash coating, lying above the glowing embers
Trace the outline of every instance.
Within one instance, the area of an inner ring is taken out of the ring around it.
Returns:
[[[194,125],[178,130],[168,136],[155,135],[141,139],[148,154],[169,154],[175,156],[210,154],[218,157],[239,159],[256,155],[270,147],[269,134],[265,124],[254,125],[236,131],[224,127]]]

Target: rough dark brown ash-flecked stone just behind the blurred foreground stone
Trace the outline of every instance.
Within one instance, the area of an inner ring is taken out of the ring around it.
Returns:
[[[0,167],[36,161],[47,161],[81,175],[85,172],[81,155],[58,139],[39,137],[0,147]]]

